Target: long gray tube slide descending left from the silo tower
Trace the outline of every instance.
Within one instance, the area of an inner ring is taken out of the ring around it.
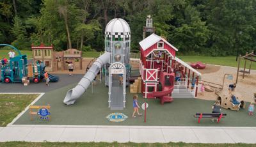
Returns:
[[[77,86],[73,89],[68,90],[67,95],[63,102],[67,105],[72,105],[76,100],[83,95],[86,89],[90,86],[93,79],[97,76],[100,68],[109,63],[110,54],[105,52],[102,54],[91,66],[91,68],[86,72],[84,77],[78,82]]]

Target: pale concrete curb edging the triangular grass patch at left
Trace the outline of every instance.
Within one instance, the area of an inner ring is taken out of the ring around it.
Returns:
[[[15,94],[23,94],[23,95],[25,95],[25,94],[40,94],[35,100],[33,100],[33,102],[31,102],[31,104],[29,104],[29,105],[33,105],[33,104],[35,104],[45,93],[0,93],[0,94],[14,94],[14,95],[15,95]],[[12,122],[8,123],[7,127],[12,126],[13,123],[15,123],[15,121],[17,121],[17,120],[20,118],[20,116],[22,116],[26,111],[28,111],[29,105],[28,105],[22,112],[20,112],[20,113],[12,120]]]

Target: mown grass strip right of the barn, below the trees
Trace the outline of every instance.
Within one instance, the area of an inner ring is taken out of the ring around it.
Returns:
[[[211,57],[211,56],[178,56],[185,62],[196,62],[201,61],[202,63],[207,63],[211,65],[224,65],[237,67],[236,56],[227,56],[227,57]],[[240,63],[240,68],[243,68],[244,61]],[[246,68],[249,68],[250,62],[247,61]],[[252,69],[256,70],[256,63],[252,63]]]

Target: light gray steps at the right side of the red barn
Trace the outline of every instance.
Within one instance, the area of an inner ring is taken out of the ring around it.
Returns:
[[[186,86],[180,86],[173,89],[172,98],[195,98],[195,94],[191,89],[186,89]]]

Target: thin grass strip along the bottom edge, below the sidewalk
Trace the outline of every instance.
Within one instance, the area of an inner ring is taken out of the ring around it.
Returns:
[[[243,146],[255,146],[255,144],[241,144],[241,143],[237,143],[237,144],[200,144],[200,143],[29,143],[29,142],[6,142],[6,143],[0,143],[0,146],[64,146],[64,147],[76,147],[76,146],[120,146],[120,147],[128,147],[128,146],[132,146],[132,147],[136,147],[136,146],[189,146],[189,147],[194,147],[194,146],[198,146],[198,147],[203,147],[203,146],[220,146],[220,147],[226,147],[226,146],[230,146],[230,147],[243,147]]]

